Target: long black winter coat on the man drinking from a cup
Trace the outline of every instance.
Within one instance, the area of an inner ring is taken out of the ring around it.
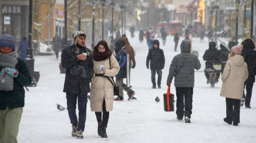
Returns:
[[[72,51],[73,49],[73,51]],[[90,80],[93,75],[93,61],[92,52],[86,47],[82,47],[79,54],[86,53],[86,49],[91,54],[86,57],[86,60],[79,60],[75,54],[76,47],[72,46],[65,47],[61,54],[61,65],[66,69],[66,77],[64,83],[63,92],[73,93],[73,94],[87,94],[90,90]],[[70,73],[70,68],[74,65],[81,65],[86,71],[86,79],[84,79],[81,74],[74,76]]]

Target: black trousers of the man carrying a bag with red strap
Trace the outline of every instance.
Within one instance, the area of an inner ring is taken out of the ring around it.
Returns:
[[[192,102],[193,102],[193,87],[176,87],[176,114],[178,118],[191,118]],[[185,102],[184,102],[185,101]],[[185,104],[184,104],[185,103]],[[185,111],[184,111],[185,107]]]

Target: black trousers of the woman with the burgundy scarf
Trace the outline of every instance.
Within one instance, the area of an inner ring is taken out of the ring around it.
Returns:
[[[101,123],[102,122],[102,126],[103,127],[107,127],[108,126],[108,118],[109,118],[109,111],[106,111],[106,101],[105,98],[103,99],[103,104],[102,104],[102,110],[103,110],[103,116],[101,112],[95,112],[96,118],[97,118],[97,122]],[[101,119],[102,116],[102,119]]]

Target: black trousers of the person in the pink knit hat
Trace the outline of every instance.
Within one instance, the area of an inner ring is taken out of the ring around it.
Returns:
[[[226,97],[226,114],[230,122],[240,123],[240,101],[239,99]]]

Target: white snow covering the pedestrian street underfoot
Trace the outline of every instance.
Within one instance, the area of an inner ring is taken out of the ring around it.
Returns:
[[[225,98],[220,97],[222,82],[210,88],[204,76],[204,51],[208,49],[208,38],[200,43],[199,38],[193,38],[192,48],[199,53],[201,69],[195,72],[195,88],[193,94],[193,110],[191,124],[178,121],[176,113],[165,112],[163,109],[163,94],[166,93],[166,79],[172,58],[180,53],[174,52],[173,36],[168,36],[166,45],[162,39],[160,48],[164,50],[165,67],[162,70],[162,89],[151,89],[151,73],[146,68],[148,47],[146,40],[139,43],[139,32],[131,39],[127,37],[136,51],[136,67],[131,70],[131,85],[136,91],[138,100],[115,101],[114,109],[110,112],[107,139],[97,134],[97,120],[95,113],[90,110],[90,101],[87,103],[87,119],[85,123],[84,139],[71,136],[71,124],[68,111],[58,111],[56,103],[66,107],[65,93],[62,92],[65,75],[60,74],[60,60],[52,56],[35,56],[35,71],[40,71],[37,87],[26,91],[25,107],[20,123],[18,142],[20,143],[164,143],[164,142],[246,142],[256,140],[256,87],[252,91],[252,109],[241,108],[240,124],[228,125],[223,121],[226,117]],[[184,37],[180,37],[179,45]],[[228,39],[224,39],[225,43]],[[157,76],[156,76],[157,78]],[[125,80],[124,80],[125,81]],[[175,87],[171,85],[171,93],[176,95]],[[90,93],[89,93],[90,94]],[[126,92],[124,91],[124,94]],[[160,102],[156,103],[158,96]],[[176,99],[175,99],[176,100]],[[176,109],[176,106],[175,106]],[[78,115],[78,109],[77,109]],[[184,119],[184,118],[183,118]]]

